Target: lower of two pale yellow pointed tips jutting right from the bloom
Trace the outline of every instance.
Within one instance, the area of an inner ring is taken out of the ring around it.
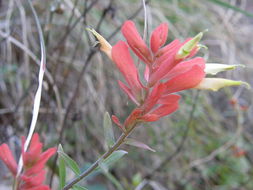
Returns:
[[[228,80],[223,78],[204,78],[195,88],[200,90],[217,91],[223,87],[240,86],[240,85],[245,85],[247,88],[250,88],[250,85],[246,82]]]

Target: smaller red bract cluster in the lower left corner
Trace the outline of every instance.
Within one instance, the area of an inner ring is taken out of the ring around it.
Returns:
[[[44,185],[45,164],[47,160],[56,152],[56,148],[49,148],[42,152],[43,144],[39,135],[35,133],[32,137],[30,147],[24,152],[25,138],[22,137],[22,159],[23,171],[16,179],[16,190],[50,190]],[[5,163],[12,175],[17,175],[17,162],[7,144],[0,146],[0,159]]]

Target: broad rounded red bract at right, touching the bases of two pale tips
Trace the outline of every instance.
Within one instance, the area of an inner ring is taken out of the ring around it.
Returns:
[[[165,83],[166,94],[196,87],[205,77],[204,70],[195,65],[189,71],[179,74]]]

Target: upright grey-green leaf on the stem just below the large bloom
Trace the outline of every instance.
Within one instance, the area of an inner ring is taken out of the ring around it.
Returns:
[[[108,112],[104,115],[104,135],[105,135],[105,142],[108,148],[110,148],[114,143],[114,133],[112,130],[112,121]]]

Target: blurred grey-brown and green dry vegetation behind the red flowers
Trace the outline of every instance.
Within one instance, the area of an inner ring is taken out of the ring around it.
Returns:
[[[141,0],[34,0],[47,50],[47,71],[37,131],[46,147],[61,143],[83,169],[104,152],[103,115],[122,120],[134,105],[117,85],[120,73],[95,47],[86,27],[111,44],[123,39],[121,24],[132,19],[142,33]],[[219,74],[253,84],[252,0],[150,0],[148,33],[169,24],[168,42],[208,29],[202,40],[208,61],[243,64]],[[20,136],[28,133],[37,88],[40,46],[34,17],[25,0],[0,1],[0,144],[19,155]],[[129,154],[110,170],[126,190],[253,189],[252,90],[180,93],[180,109],[139,127],[133,137],[155,153],[123,146]],[[120,134],[115,127],[115,133]],[[0,163],[1,164],[1,163]],[[50,183],[53,159],[49,163]],[[0,189],[11,176],[0,165]],[[74,174],[68,172],[68,178]],[[90,190],[114,190],[112,178],[96,173],[83,184]],[[57,174],[53,189],[57,189]],[[51,181],[52,182],[52,181]]]

